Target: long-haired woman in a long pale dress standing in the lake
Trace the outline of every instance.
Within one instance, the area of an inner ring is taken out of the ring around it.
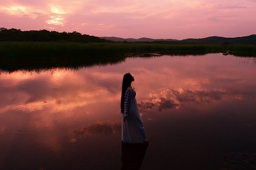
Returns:
[[[134,77],[130,73],[123,75],[121,112],[122,114],[122,142],[148,144],[143,122],[139,115],[136,92],[131,87]]]

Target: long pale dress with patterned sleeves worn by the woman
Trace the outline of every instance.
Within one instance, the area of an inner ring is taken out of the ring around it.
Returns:
[[[143,143],[147,141],[135,96],[135,90],[128,87],[125,95],[125,113],[122,114],[122,142],[124,143]],[[125,115],[127,115],[127,120],[124,122]]]

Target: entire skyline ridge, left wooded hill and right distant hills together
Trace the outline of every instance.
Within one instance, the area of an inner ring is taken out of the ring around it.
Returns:
[[[82,35],[79,32],[56,32],[42,29],[39,31],[21,31],[20,29],[0,28],[0,41],[38,41],[38,42],[153,42],[164,44],[256,44],[256,35],[244,37],[206,37],[204,39],[149,39],[146,37],[140,39],[122,39],[119,37],[96,37],[90,35]]]

